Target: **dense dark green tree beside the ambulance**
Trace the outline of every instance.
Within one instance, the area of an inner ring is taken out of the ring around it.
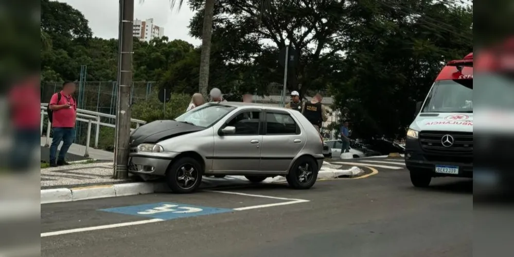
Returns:
[[[404,137],[442,64],[472,51],[472,10],[433,1],[352,0],[346,56],[330,84],[353,135]]]

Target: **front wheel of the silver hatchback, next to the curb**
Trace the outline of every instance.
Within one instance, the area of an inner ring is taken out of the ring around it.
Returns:
[[[183,157],[169,167],[166,183],[173,193],[187,194],[197,190],[202,183],[202,176],[201,164],[194,158]]]

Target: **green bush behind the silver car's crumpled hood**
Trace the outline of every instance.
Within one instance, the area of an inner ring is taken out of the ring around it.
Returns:
[[[191,102],[191,96],[185,94],[172,94],[171,100],[166,103],[164,113],[163,103],[152,94],[147,101],[138,101],[132,105],[132,118],[144,120],[147,123],[155,120],[171,120],[186,112]]]

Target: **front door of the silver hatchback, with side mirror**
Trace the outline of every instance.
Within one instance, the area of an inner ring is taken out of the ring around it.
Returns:
[[[236,113],[220,128],[234,126],[235,134],[214,135],[214,172],[257,172],[262,145],[262,110],[247,109]]]

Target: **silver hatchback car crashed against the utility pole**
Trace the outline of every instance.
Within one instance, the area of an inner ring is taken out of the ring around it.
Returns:
[[[193,192],[203,175],[252,182],[281,175],[292,188],[308,189],[324,159],[323,139],[301,113],[238,102],[150,122],[132,132],[130,145],[129,172],[165,176],[176,193]]]

